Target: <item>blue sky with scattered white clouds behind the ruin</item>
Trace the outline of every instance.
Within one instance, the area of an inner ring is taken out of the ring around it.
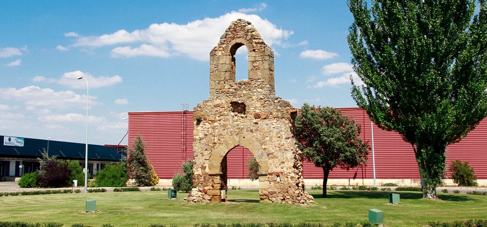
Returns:
[[[278,96],[356,106],[346,1],[2,1],[0,134],[84,143],[78,76],[89,143],[118,144],[127,112],[192,109],[208,98],[211,48],[238,18],[274,50]]]

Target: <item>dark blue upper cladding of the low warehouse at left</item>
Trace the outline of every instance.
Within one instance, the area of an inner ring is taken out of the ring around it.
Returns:
[[[8,136],[7,136],[8,137]],[[24,138],[23,146],[3,145],[4,136],[0,135],[0,156],[19,157],[34,156],[41,157],[42,148],[47,150],[47,140]],[[49,141],[49,156],[57,155],[59,158],[84,159],[86,144]],[[88,159],[91,160],[120,160],[122,153],[120,148],[88,144]]]

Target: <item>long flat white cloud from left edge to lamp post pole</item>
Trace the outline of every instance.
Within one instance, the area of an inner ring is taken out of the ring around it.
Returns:
[[[23,102],[25,106],[33,108],[45,106],[54,109],[69,109],[86,106],[86,95],[78,95],[73,91],[54,91],[50,88],[27,86],[17,88],[0,88],[0,99]],[[99,105],[96,96],[89,97],[90,105]],[[32,109],[33,110],[33,109]]]

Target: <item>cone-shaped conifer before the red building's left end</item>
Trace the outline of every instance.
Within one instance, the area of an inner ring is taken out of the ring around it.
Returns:
[[[155,186],[159,182],[154,167],[144,153],[146,147],[140,134],[132,141],[132,147],[127,149],[127,158],[123,160],[125,172],[135,180],[137,186]],[[157,182],[154,180],[157,178]]]

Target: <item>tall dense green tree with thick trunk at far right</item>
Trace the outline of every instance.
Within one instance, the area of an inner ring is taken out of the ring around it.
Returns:
[[[349,0],[352,97],[411,144],[424,198],[437,198],[446,146],[487,113],[486,1]]]

